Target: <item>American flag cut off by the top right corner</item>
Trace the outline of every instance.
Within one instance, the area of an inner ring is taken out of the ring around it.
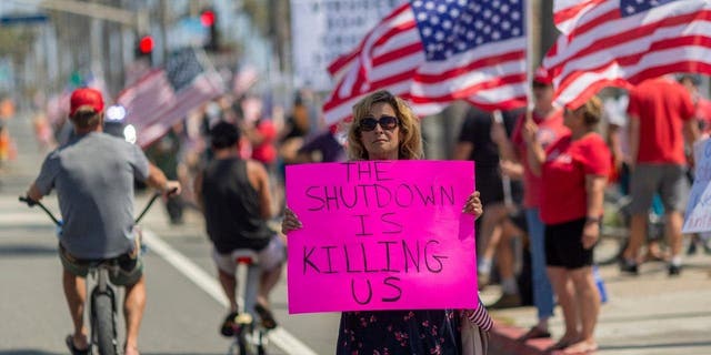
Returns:
[[[553,9],[564,34],[543,65],[561,104],[665,73],[711,73],[709,0],[557,0]]]

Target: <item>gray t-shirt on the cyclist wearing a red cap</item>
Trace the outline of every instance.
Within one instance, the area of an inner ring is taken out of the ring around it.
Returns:
[[[50,153],[34,184],[57,189],[63,226],[60,242],[74,257],[119,256],[133,243],[133,179],[148,178],[137,145],[106,133],[73,138]]]

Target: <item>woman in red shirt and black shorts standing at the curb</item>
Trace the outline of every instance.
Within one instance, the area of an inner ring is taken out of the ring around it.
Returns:
[[[547,270],[565,321],[565,334],[552,348],[564,354],[598,348],[593,332],[600,294],[592,275],[592,250],[600,235],[611,159],[604,140],[594,132],[601,112],[598,98],[574,110],[567,108],[563,124],[570,134],[545,151],[534,139],[538,126],[532,120],[523,130],[531,169],[542,176]]]

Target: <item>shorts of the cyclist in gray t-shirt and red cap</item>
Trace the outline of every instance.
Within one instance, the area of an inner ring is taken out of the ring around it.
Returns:
[[[59,258],[64,270],[70,274],[79,277],[87,277],[87,274],[89,274],[89,264],[91,262],[73,257],[64,250],[61,243],[59,244]],[[140,253],[122,254],[116,261],[119,265],[119,271],[109,273],[109,280],[112,284],[130,286],[139,282],[143,276],[143,257]]]

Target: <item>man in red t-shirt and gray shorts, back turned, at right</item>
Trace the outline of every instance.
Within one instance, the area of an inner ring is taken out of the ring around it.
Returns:
[[[645,80],[630,91],[631,196],[630,244],[622,272],[638,273],[637,258],[647,234],[647,211],[659,192],[667,215],[671,246],[669,275],[681,272],[681,227],[689,195],[684,142],[699,138],[694,105],[689,92],[673,78]],[[683,134],[682,134],[683,131]]]

